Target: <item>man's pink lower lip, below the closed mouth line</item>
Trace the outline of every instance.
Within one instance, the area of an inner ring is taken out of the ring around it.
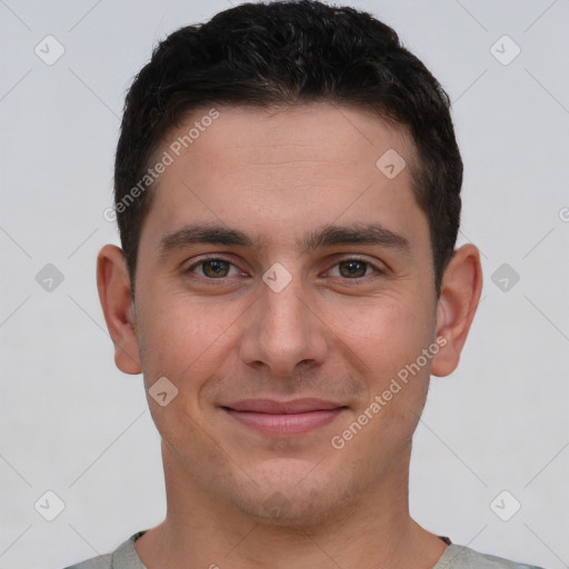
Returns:
[[[305,413],[260,413],[253,411],[226,411],[242,425],[264,435],[303,435],[332,422],[346,408],[307,411]]]

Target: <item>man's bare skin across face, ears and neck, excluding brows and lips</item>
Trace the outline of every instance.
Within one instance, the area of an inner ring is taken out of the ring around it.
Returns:
[[[172,130],[157,156],[208,110]],[[480,298],[479,252],[455,252],[437,297],[402,127],[330,103],[218,110],[152,188],[134,303],[121,250],[109,244],[98,258],[117,366],[142,372],[147,392],[161,377],[178,389],[166,407],[148,397],[167,517],[136,550],[149,569],[432,568],[447,546],[409,516],[411,437],[430,375],[458,365]],[[393,179],[376,167],[388,149],[407,162]],[[196,222],[243,231],[257,247],[190,243],[159,254],[164,236]],[[328,224],[361,223],[381,223],[408,249],[297,242]],[[221,278],[198,264],[208,253],[232,263],[214,266]],[[262,280],[277,262],[291,278],[280,292]],[[437,338],[445,347],[333,448],[331,438]],[[347,408],[305,435],[269,436],[220,407],[258,397]]]

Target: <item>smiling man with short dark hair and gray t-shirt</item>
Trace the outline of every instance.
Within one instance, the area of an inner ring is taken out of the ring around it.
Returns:
[[[447,94],[367,13],[242,4],[161,42],[127,97],[98,287],[168,510],[74,567],[528,567],[409,516],[430,375],[480,298],[461,181]]]

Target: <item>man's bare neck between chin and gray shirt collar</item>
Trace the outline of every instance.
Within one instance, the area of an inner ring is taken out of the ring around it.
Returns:
[[[137,540],[137,553],[148,569],[431,569],[447,546],[409,516],[409,456],[351,506],[317,525],[282,526],[221,507],[163,450],[167,517]]]

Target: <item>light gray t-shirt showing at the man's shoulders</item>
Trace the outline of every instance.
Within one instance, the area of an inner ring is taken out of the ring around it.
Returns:
[[[134,541],[144,533],[139,531],[118,547],[113,553],[94,557],[66,569],[147,569],[134,549]],[[450,543],[448,538],[441,538]],[[463,547],[449,545],[432,569],[541,569],[536,566],[508,561],[500,557],[486,556]]]

